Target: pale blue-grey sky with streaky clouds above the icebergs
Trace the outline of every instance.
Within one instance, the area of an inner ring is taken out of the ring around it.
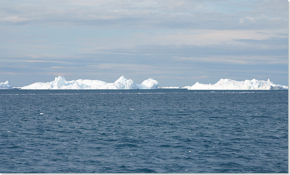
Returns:
[[[0,82],[288,85],[288,1],[1,0]]]

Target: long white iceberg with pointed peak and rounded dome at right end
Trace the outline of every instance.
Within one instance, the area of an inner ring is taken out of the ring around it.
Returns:
[[[136,84],[132,79],[121,76],[114,83],[101,80],[78,79],[66,81],[63,76],[55,77],[54,81],[47,83],[33,83],[21,89],[158,89],[158,81],[153,78]]]

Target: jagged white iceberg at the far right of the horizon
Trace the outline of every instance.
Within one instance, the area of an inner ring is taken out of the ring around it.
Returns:
[[[288,86],[274,84],[270,79],[236,81],[232,79],[220,79],[215,84],[202,84],[196,82],[193,86],[185,86],[188,90],[279,90],[288,89]]]

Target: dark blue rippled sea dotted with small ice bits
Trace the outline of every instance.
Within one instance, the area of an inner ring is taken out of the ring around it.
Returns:
[[[288,173],[288,90],[211,91],[0,90],[0,172]]]

